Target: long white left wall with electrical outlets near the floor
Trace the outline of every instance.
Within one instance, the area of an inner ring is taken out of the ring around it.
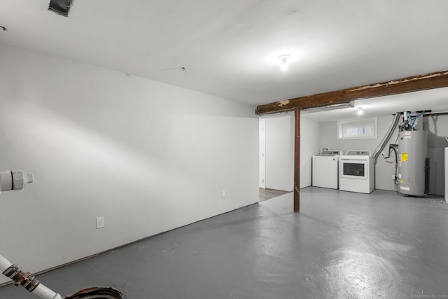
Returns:
[[[0,252],[24,270],[258,202],[253,106],[3,43],[0,66],[0,169],[35,176],[0,195]]]

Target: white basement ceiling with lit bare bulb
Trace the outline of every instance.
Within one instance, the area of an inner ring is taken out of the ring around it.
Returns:
[[[48,4],[0,0],[0,41],[253,105],[448,69],[446,0],[74,0],[68,18]]]

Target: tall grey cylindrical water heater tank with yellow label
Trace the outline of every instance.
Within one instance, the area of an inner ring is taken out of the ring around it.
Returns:
[[[403,195],[425,195],[425,159],[428,131],[403,131],[398,141],[398,191]]]

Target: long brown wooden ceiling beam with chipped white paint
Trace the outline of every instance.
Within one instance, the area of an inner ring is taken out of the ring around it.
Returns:
[[[397,95],[405,92],[419,90],[429,90],[433,88],[448,87],[448,71],[401,78],[383,83],[358,86],[332,92],[296,97],[280,102],[272,102],[257,106],[255,113],[276,113],[281,111],[291,111],[295,108],[311,108],[327,106],[332,104],[342,104],[356,99],[366,99],[370,97],[381,97],[384,95]]]

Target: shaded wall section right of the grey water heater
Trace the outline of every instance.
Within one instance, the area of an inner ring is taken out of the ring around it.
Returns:
[[[448,116],[423,118],[423,130],[428,130],[430,158],[429,192],[444,195],[444,148],[448,146]]]

